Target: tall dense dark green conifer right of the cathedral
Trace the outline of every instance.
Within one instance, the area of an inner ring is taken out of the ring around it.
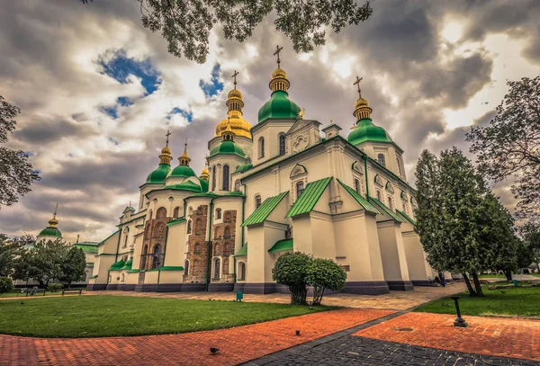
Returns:
[[[479,272],[516,266],[517,238],[508,210],[456,147],[439,158],[422,152],[416,176],[417,230],[428,263],[437,271],[464,273],[471,295],[482,295]]]

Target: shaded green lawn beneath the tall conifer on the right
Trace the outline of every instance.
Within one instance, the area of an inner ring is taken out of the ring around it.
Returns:
[[[471,298],[461,293],[459,308],[462,314],[488,317],[533,317],[540,319],[540,287],[488,290],[482,286],[485,298]],[[455,314],[454,300],[438,299],[415,311]]]

